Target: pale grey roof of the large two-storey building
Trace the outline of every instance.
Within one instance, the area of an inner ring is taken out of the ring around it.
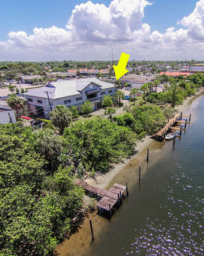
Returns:
[[[85,87],[87,87],[91,83],[98,85],[99,88],[101,88],[101,90],[115,87],[113,84],[100,81],[95,77],[85,78],[80,80],[59,79],[57,82],[48,83],[46,86],[42,86],[30,92],[26,92],[24,93],[24,95],[47,98],[46,91],[48,91],[50,92],[49,93],[50,99],[59,99],[62,97],[67,97],[72,95],[81,95],[80,92],[82,92],[82,90],[84,90]]]

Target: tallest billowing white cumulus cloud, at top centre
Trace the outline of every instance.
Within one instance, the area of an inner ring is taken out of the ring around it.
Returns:
[[[146,0],[113,0],[110,6],[91,1],[75,6],[66,28],[88,42],[131,40],[142,25]],[[102,36],[101,36],[102,35]]]

